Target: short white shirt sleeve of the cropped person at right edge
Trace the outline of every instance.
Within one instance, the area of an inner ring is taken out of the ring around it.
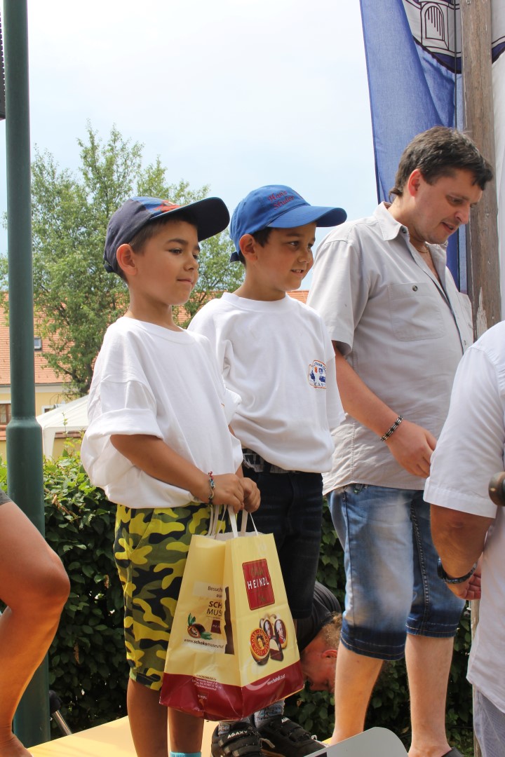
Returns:
[[[488,484],[491,476],[503,470],[504,389],[503,376],[489,354],[479,342],[474,344],[454,379],[449,414],[426,481],[427,502],[488,518],[496,516]]]

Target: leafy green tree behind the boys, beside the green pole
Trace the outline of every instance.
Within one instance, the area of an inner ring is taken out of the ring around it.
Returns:
[[[67,394],[89,391],[93,363],[107,327],[126,310],[126,286],[107,273],[102,255],[108,220],[132,196],[151,195],[185,204],[208,195],[188,182],[167,182],[158,157],[142,167],[142,145],[123,139],[114,126],[102,141],[90,123],[77,139],[77,173],[61,170],[48,151],[37,151],[32,165],[34,307],[45,358],[64,380]],[[179,320],[189,321],[209,292],[236,288],[242,266],[229,266],[231,242],[226,232],[201,245],[200,282]],[[7,259],[0,279],[7,285]],[[7,303],[4,301],[4,306]]]

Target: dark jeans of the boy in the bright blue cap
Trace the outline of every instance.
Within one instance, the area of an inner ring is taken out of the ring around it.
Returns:
[[[321,544],[323,478],[319,473],[265,473],[249,468],[244,475],[256,481],[260,490],[261,506],[254,512],[254,523],[261,533],[273,534],[291,615],[308,618]]]

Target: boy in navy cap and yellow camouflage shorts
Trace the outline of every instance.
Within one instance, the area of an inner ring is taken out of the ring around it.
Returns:
[[[218,198],[184,207],[126,201],[108,226],[104,265],[126,280],[129,308],[95,363],[81,450],[96,486],[117,503],[114,556],[124,593],[128,715],[139,757],[200,755],[203,721],[159,704],[164,662],[192,534],[212,505],[259,504],[242,477],[228,391],[207,339],[180,329],[172,306],[198,278],[198,242],[226,228]]]

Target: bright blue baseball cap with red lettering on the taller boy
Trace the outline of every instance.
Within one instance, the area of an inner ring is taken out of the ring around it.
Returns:
[[[260,229],[295,229],[306,223],[338,226],[348,217],[341,207],[309,205],[298,192],[282,184],[269,184],[249,192],[232,215],[229,235],[235,245],[230,261],[239,260],[240,239]]]

